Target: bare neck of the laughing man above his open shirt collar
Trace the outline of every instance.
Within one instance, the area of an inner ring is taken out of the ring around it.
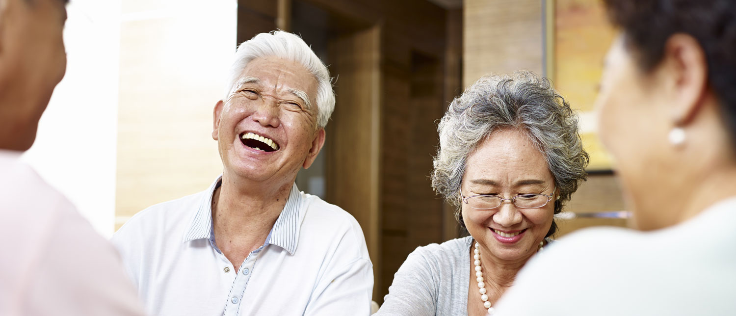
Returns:
[[[236,270],[248,253],[266,241],[286,206],[291,186],[293,180],[271,190],[264,189],[266,185],[238,186],[223,175],[212,197],[213,228],[217,247]]]

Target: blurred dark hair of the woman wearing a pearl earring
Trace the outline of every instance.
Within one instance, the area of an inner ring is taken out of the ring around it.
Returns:
[[[684,33],[698,41],[708,64],[708,85],[721,102],[736,145],[736,1],[604,0],[604,4],[643,71],[659,64],[671,35]]]

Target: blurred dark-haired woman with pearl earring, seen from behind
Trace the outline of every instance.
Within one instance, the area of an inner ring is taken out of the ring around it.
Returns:
[[[736,1],[605,3],[598,123],[640,231],[563,239],[498,314],[736,315]]]

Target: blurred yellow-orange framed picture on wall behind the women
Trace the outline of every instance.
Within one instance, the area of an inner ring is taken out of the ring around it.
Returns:
[[[594,102],[616,30],[600,0],[543,0],[545,76],[580,114],[589,172],[610,172],[612,158],[597,133]]]

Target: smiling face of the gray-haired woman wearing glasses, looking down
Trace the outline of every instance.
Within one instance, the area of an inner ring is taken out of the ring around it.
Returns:
[[[465,197],[494,194],[507,199],[520,194],[552,194],[554,189],[544,155],[520,130],[499,130],[486,138],[468,157],[461,185]],[[498,208],[478,210],[463,202],[462,216],[470,235],[481,244],[484,257],[523,261],[537,252],[549,231],[555,198],[540,208],[517,208],[504,201]]]

